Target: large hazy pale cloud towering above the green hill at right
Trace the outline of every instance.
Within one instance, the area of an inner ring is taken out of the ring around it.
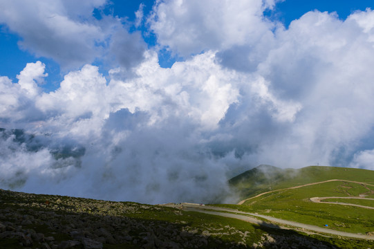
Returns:
[[[274,95],[300,102],[303,109],[291,129],[265,147],[264,159],[272,156],[275,165],[348,166],[355,147],[371,131],[374,44],[355,15],[362,13],[341,21],[327,12],[308,12],[289,30],[277,31],[277,46],[258,73]]]

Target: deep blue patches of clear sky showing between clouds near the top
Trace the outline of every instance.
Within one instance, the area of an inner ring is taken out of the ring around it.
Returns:
[[[144,15],[149,15],[153,6],[153,1],[121,1],[111,0],[106,4],[103,10],[95,10],[96,17],[100,18],[97,13],[104,12],[105,15],[114,15],[118,17],[126,17],[131,23],[135,20],[135,11],[138,10],[140,4],[144,4]],[[321,12],[337,12],[340,19],[346,19],[350,13],[355,10],[365,10],[366,8],[374,9],[373,1],[369,0],[342,0],[342,1],[323,1],[323,0],[286,0],[277,3],[274,10],[267,10],[265,15],[272,19],[281,21],[286,27],[294,19],[299,19],[306,12],[312,10],[319,10]],[[134,27],[131,27],[133,30]],[[156,44],[156,36],[150,33],[147,26],[142,25],[138,28],[142,31],[144,41],[147,42],[148,46],[154,46]],[[46,85],[44,85],[45,91],[53,91],[57,89],[59,82],[63,79],[63,74],[60,71],[59,64],[53,59],[48,57],[37,57],[28,50],[20,49],[17,46],[17,42],[22,37],[10,31],[6,24],[1,25],[0,33],[0,75],[6,75],[11,79],[15,80],[16,75],[24,68],[26,63],[35,62],[41,60],[46,64],[46,72],[48,78],[46,79]],[[163,67],[170,67],[178,56],[171,56],[167,50],[160,50],[159,52],[160,65]],[[180,60],[180,58],[179,58]],[[102,73],[106,73],[102,71]]]

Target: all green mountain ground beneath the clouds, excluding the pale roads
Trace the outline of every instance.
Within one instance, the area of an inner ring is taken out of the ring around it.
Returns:
[[[269,223],[265,216],[250,223],[265,214],[319,227],[328,224],[330,229],[366,233],[366,237],[374,234],[373,210],[310,201],[312,196],[357,196],[363,192],[372,197],[374,185],[338,180],[298,187],[327,175],[374,180],[373,172],[363,169],[261,165],[230,183],[232,187],[256,186],[263,194],[252,194],[243,205],[221,204],[231,208],[221,211],[216,205],[144,205],[0,190],[0,248],[373,248],[370,239],[282,227],[282,223]],[[241,213],[241,219],[232,219],[238,215],[236,210],[246,213]]]

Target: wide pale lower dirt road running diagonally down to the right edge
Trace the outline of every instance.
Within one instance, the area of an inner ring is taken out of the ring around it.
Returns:
[[[174,204],[171,204],[169,206],[171,206],[171,207],[174,206],[175,207]],[[182,208],[182,206],[183,206],[183,208]],[[232,210],[230,208],[218,208],[218,207],[212,207],[212,206],[202,206],[202,205],[195,204],[195,203],[182,203],[182,205],[177,205],[177,207],[179,207],[183,210],[186,210],[186,211],[203,212],[205,214],[213,214],[213,215],[225,216],[225,217],[229,217],[229,218],[233,218],[233,219],[240,219],[242,221],[247,221],[247,222],[250,222],[250,223],[257,224],[257,225],[264,225],[264,226],[271,227],[271,228],[295,230],[294,228],[286,228],[284,226],[284,225],[291,225],[292,227],[299,228],[299,229],[296,229],[296,230],[299,230],[299,231],[302,231],[302,232],[307,232],[307,233],[310,233],[308,231],[312,231],[312,232],[317,232],[317,233],[334,234],[334,235],[338,235],[338,236],[342,236],[342,237],[351,237],[351,238],[356,238],[356,239],[374,240],[373,236],[367,236],[367,235],[363,235],[363,234],[354,234],[354,233],[351,233],[351,232],[340,232],[340,231],[331,230],[331,229],[324,228],[324,227],[319,227],[317,225],[308,225],[308,224],[298,223],[298,222],[294,222],[294,221],[286,221],[286,220],[283,220],[283,219],[277,219],[277,218],[274,218],[274,217],[271,217],[271,216],[265,216],[265,215],[262,215],[262,214],[254,214],[254,213],[250,213],[250,212],[241,212],[241,211],[238,211],[238,210]],[[234,212],[235,214],[227,213],[227,212]],[[250,217],[250,216],[247,216],[247,215],[259,217],[259,218],[262,218],[262,219],[266,219],[270,222],[261,221],[259,219],[256,219],[256,218],[253,218],[253,217]]]

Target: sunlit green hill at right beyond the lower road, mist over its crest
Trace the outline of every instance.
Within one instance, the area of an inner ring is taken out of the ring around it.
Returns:
[[[264,194],[246,201],[244,205],[230,205],[247,212],[258,212],[290,221],[312,225],[328,224],[330,228],[346,232],[366,233],[374,231],[374,210],[328,203],[312,203],[311,197],[359,196],[373,198],[374,187],[344,181],[309,185],[292,190],[287,187],[315,183],[330,179],[374,183],[374,171],[340,167],[310,166],[302,169],[277,169],[261,166],[251,169],[230,180],[243,199],[261,192],[281,190]],[[344,202],[344,200],[339,200]],[[347,201],[352,203],[352,201]]]

